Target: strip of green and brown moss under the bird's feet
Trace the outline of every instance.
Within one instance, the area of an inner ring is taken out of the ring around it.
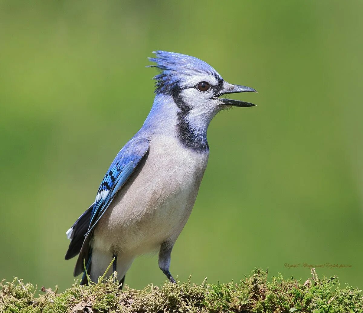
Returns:
[[[78,281],[65,292],[37,288],[15,278],[1,282],[0,312],[359,312],[361,290],[341,286],[336,277],[312,277],[302,282],[281,275],[267,280],[267,271],[255,269],[238,284],[201,285],[190,282],[143,290],[125,286],[120,290],[112,277],[98,284],[81,286]]]

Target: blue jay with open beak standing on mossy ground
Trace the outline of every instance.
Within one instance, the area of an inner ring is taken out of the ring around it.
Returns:
[[[94,203],[66,232],[65,259],[79,255],[91,280],[122,277],[135,257],[159,251],[159,267],[175,283],[169,267],[173,245],[191,214],[208,162],[207,128],[224,108],[254,104],[221,95],[256,92],[232,85],[209,64],[184,54],[157,51],[149,58],[160,73],[144,125],[121,149],[99,186]],[[83,274],[82,283],[87,283]]]

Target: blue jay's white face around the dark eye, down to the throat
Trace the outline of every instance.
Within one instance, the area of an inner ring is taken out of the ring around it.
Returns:
[[[192,108],[188,114],[188,122],[191,125],[208,126],[220,111],[219,99],[214,97],[217,87],[221,87],[221,81],[212,75],[193,75],[183,81],[180,96]]]

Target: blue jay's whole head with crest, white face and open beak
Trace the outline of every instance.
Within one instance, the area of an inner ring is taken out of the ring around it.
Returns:
[[[199,119],[209,123],[215,114],[229,106],[249,107],[253,103],[219,98],[221,95],[240,92],[257,92],[255,89],[232,85],[224,81],[209,64],[185,54],[156,51],[155,62],[160,74],[156,80],[156,94],[171,95],[189,121]]]

